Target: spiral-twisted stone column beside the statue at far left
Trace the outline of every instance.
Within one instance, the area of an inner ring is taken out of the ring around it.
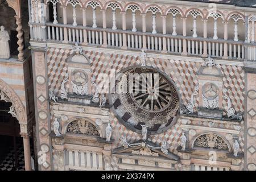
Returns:
[[[24,48],[24,42],[23,42],[23,30],[22,30],[22,19],[19,18],[19,16],[15,16],[16,19],[16,24],[17,24],[17,28],[16,31],[18,32],[18,34],[16,35],[16,37],[18,38],[18,60],[19,61],[23,61],[24,60],[24,52],[23,52],[23,48]]]

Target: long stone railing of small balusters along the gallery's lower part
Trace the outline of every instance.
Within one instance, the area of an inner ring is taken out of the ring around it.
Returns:
[[[112,30],[110,28],[92,28],[64,24],[47,23],[47,41],[61,43],[80,43],[90,46],[115,47],[122,49],[147,49],[148,51],[219,57],[223,59],[244,59],[244,42],[223,39],[192,38],[191,36],[173,36],[171,34],[151,34]],[[255,56],[251,56],[254,59]]]

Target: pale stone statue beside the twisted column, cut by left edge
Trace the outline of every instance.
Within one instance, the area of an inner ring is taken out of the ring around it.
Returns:
[[[10,47],[9,47],[10,36],[5,30],[4,26],[0,27],[0,59],[10,58]]]

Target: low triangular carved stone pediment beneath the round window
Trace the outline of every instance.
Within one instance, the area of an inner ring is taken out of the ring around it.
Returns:
[[[171,160],[179,160],[179,156],[173,154],[172,152],[168,151],[168,154],[164,154],[160,150],[160,147],[156,147],[154,143],[151,142],[143,142],[139,141],[138,143],[133,143],[129,148],[119,147],[113,150],[113,154],[120,154],[120,155],[134,155],[134,156],[151,156],[156,158],[164,158],[164,159],[171,159]]]

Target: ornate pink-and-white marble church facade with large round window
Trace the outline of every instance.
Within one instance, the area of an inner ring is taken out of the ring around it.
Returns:
[[[38,169],[255,171],[255,10],[28,0]]]

